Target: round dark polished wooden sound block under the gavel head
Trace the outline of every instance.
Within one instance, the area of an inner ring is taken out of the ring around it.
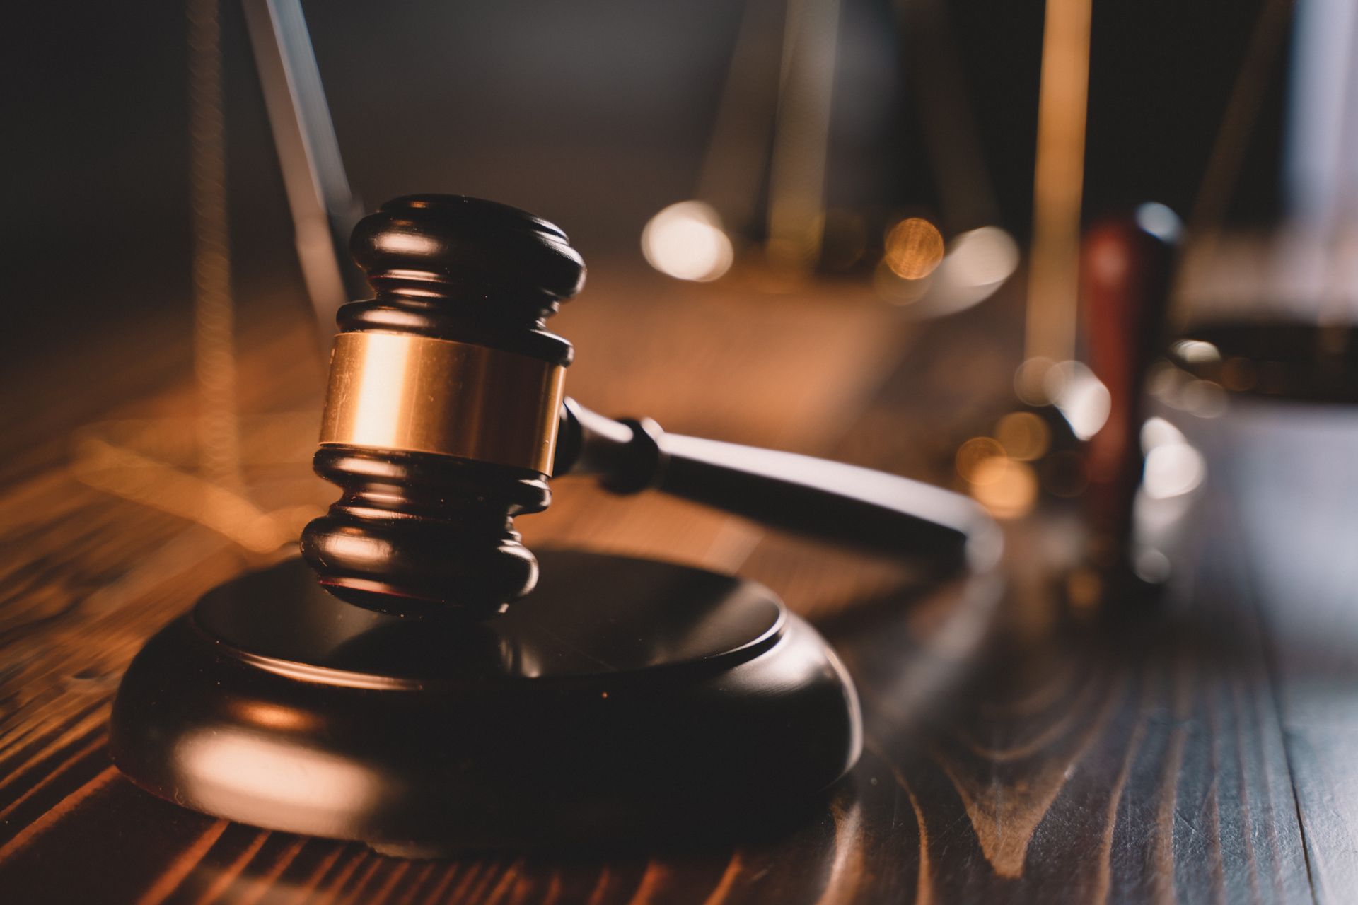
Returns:
[[[114,763],[208,814],[406,855],[710,834],[853,767],[849,676],[769,589],[540,562],[481,624],[346,604],[300,559],[231,581],[132,662]]]

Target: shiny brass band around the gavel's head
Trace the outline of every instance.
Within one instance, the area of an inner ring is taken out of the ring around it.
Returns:
[[[320,444],[437,453],[551,474],[565,368],[388,332],[335,336]]]

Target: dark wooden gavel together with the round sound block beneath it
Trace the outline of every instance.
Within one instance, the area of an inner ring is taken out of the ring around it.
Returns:
[[[551,224],[410,195],[363,220],[353,251],[375,297],[338,312],[315,455],[342,495],[301,558],[220,585],[137,654],[110,750],[143,788],[432,855],[710,832],[841,779],[861,715],[816,630],[756,582],[676,563],[555,550],[539,577],[513,520],[546,509],[557,475],[997,593],[998,529],[964,497],[565,398],[572,347],[546,319],[584,263]]]

